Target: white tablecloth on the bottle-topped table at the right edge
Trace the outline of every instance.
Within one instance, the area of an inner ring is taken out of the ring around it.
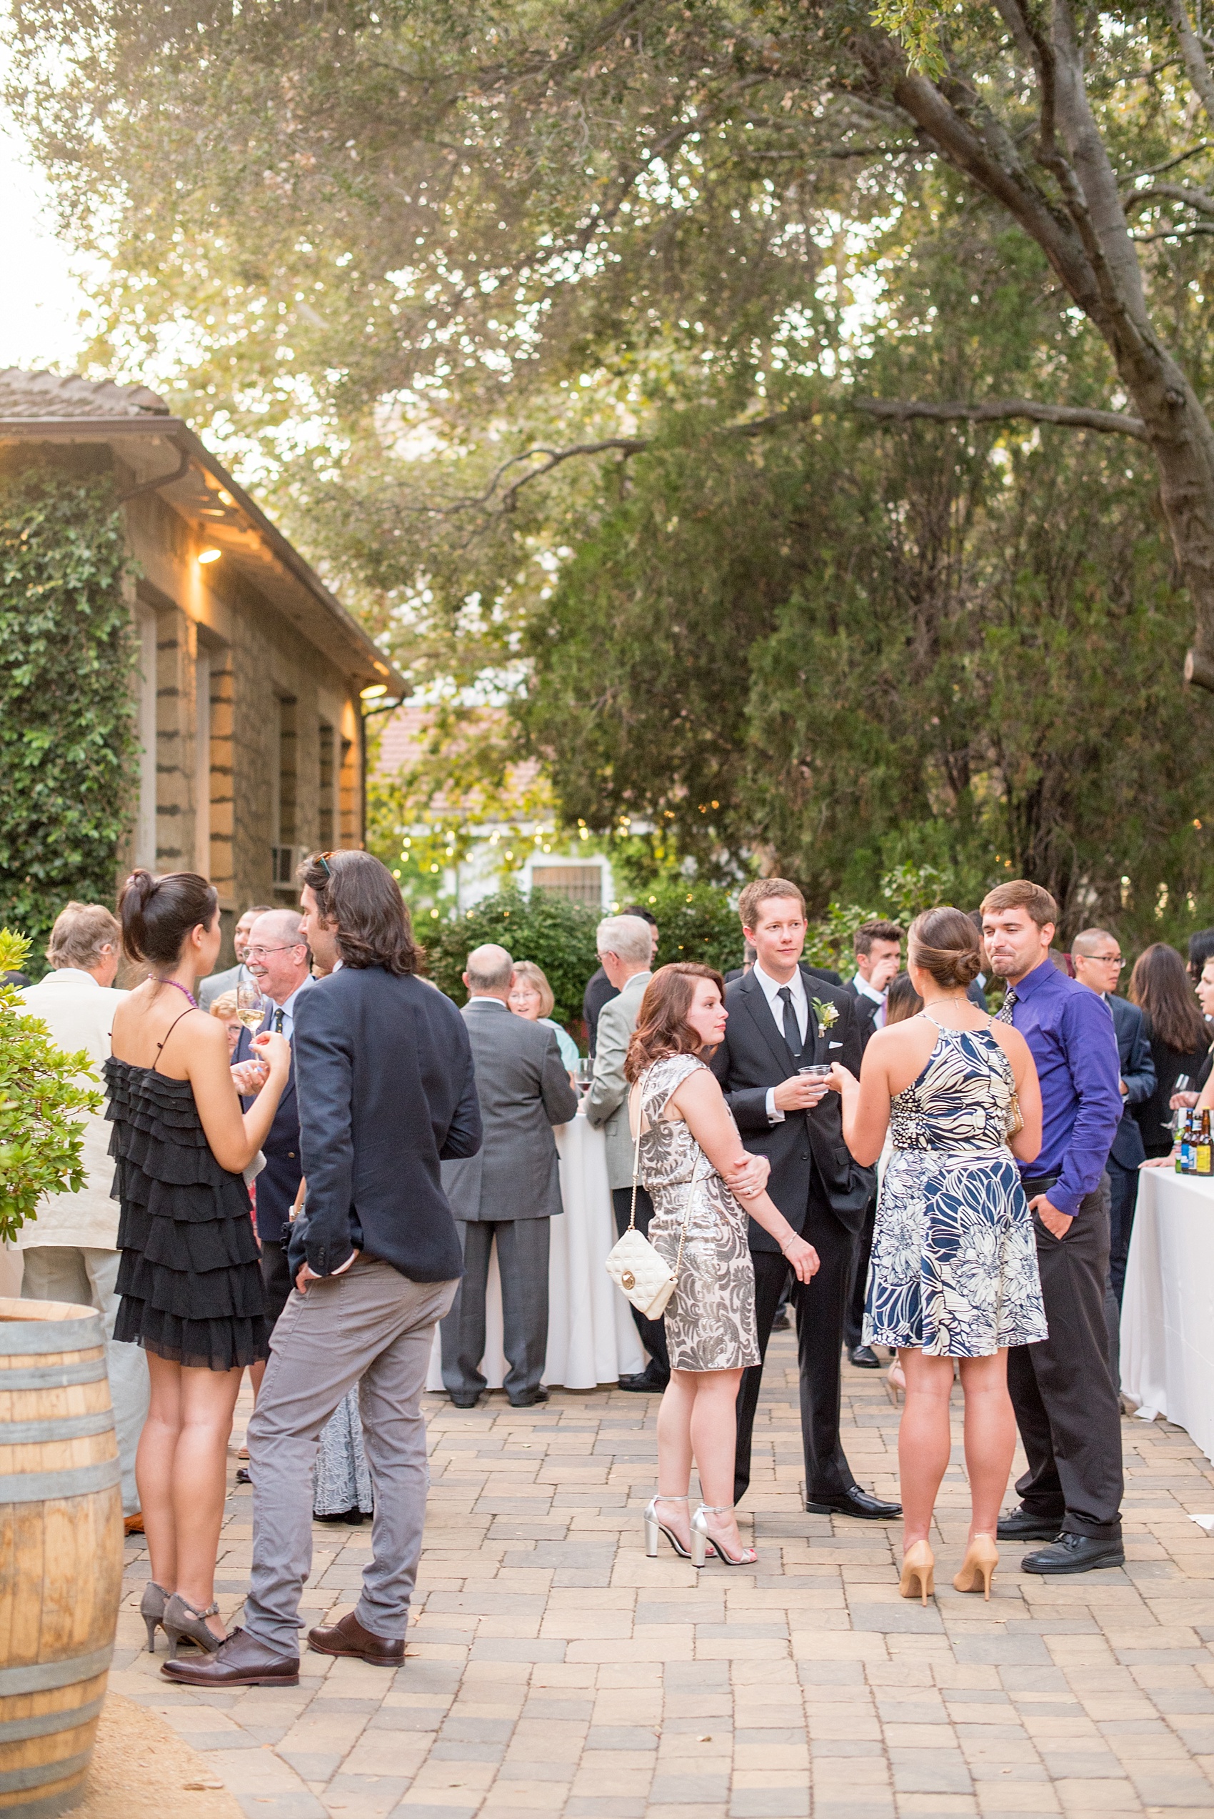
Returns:
[[[1121,1306],[1121,1388],[1214,1459],[1214,1181],[1143,1168]]]

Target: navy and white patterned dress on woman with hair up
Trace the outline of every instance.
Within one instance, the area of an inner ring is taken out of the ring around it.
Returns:
[[[989,1030],[936,1028],[927,1066],[891,1102],[863,1339],[980,1359],[1049,1330],[1032,1213],[1007,1148],[1010,1064]]]

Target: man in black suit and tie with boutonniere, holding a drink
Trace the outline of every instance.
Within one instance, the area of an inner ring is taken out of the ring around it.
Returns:
[[[738,902],[741,930],[756,950],[745,979],[725,988],[729,1024],[712,1057],[741,1141],[771,1159],[767,1191],[789,1224],[812,1244],[821,1266],[812,1282],[794,1282],[801,1372],[805,1508],[816,1515],[889,1521],[896,1502],[860,1490],[840,1444],[843,1302],[851,1282],[852,1241],[872,1193],[872,1170],[860,1168],[843,1142],[838,1095],[800,1068],[841,1060],[860,1070],[854,1000],[801,968],[805,900],[785,879],[747,884]],[[780,1248],[751,1221],[760,1355],[789,1266]],[[734,1502],[751,1482],[751,1435],[763,1366],[743,1372],[738,1392]]]

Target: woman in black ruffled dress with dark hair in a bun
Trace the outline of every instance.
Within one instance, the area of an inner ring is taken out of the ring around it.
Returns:
[[[138,869],[118,915],[127,955],[151,968],[114,1013],[105,1062],[122,1202],[114,1339],[144,1346],[151,1373],[134,1464],[153,1573],[142,1613],[149,1648],[162,1624],[171,1653],[182,1637],[214,1650],[233,1408],[244,1366],[269,1355],[244,1170],[269,1133],[291,1051],[280,1035],[254,1037],[269,1079],[242,1113],[227,1033],[193,997],[222,940],[205,879]]]

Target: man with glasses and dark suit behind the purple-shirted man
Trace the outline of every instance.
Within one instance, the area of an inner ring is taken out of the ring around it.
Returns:
[[[1118,997],[1118,980],[1125,960],[1116,935],[1107,928],[1085,928],[1070,942],[1074,977],[1089,991],[1100,993],[1112,1011],[1118,1037],[1118,1064],[1121,1068],[1121,1122],[1109,1153],[1109,1281],[1105,1284],[1105,1321],[1109,1324],[1109,1368],[1112,1386],[1121,1382],[1121,1293],[1125,1290],[1125,1261],[1130,1255],[1130,1233],[1138,1206],[1138,1170],[1147,1161],[1143,1133],[1132,1106],[1141,1106],[1156,1090],[1156,1064],[1150,1059],[1147,1020],[1138,1004]]]

